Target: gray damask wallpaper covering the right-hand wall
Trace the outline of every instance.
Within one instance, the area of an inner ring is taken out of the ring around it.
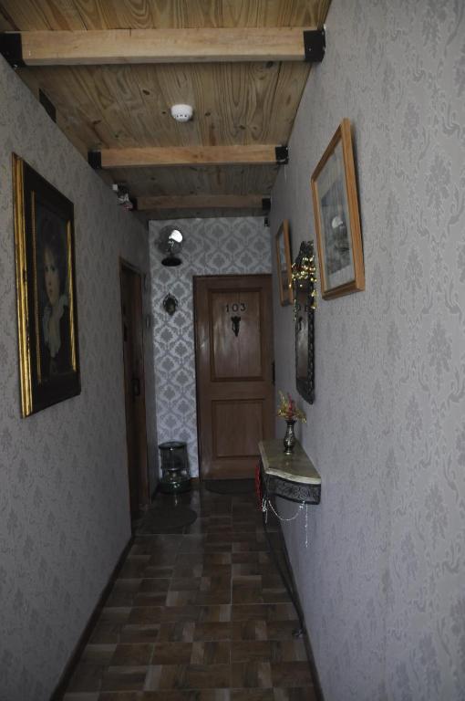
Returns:
[[[367,290],[319,301],[301,437],[322,502],[308,547],[304,519],[287,540],[326,701],[463,701],[465,5],[333,0],[326,29],[272,230],[313,237],[310,175],[348,117]],[[292,316],[275,306],[295,392]]]

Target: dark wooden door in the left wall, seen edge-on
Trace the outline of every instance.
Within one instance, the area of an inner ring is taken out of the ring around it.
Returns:
[[[121,262],[120,281],[129,501],[131,521],[134,521],[150,497],[140,273]]]

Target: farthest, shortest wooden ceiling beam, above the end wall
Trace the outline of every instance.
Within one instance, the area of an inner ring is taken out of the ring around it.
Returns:
[[[154,195],[137,198],[138,211],[160,209],[269,210],[269,198],[259,194]]]

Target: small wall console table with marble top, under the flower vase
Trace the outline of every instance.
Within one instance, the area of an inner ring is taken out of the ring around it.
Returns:
[[[304,615],[295,588],[285,542],[283,544],[284,563],[282,563],[270,538],[268,507],[271,507],[271,510],[277,517],[279,526],[281,526],[280,521],[282,520],[294,520],[294,518],[298,517],[300,511],[308,505],[320,503],[321,477],[298,441],[295,442],[292,455],[284,454],[283,440],[279,438],[270,441],[260,441],[258,446],[260,450],[263,528],[274,564],[281,574],[284,586],[291,601],[294,603],[294,608],[299,618],[300,628],[294,632],[294,635],[302,635],[305,631]],[[281,518],[279,516],[275,507],[275,497],[282,497],[299,504],[299,509],[293,518]]]

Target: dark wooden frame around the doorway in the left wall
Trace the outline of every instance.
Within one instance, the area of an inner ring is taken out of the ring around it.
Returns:
[[[134,266],[129,263],[128,260],[119,256],[119,303],[120,303],[120,314],[121,314],[121,331],[122,331],[122,350],[123,350],[123,395],[124,395],[124,416],[126,425],[126,451],[127,451],[127,467],[128,467],[128,495],[129,495],[129,513],[131,514],[132,520],[132,510],[131,510],[131,494],[130,494],[130,479],[129,479],[129,469],[131,465],[131,456],[129,455],[129,430],[128,430],[128,405],[132,402],[132,396],[128,397],[126,392],[126,358],[124,353],[124,322],[123,322],[123,310],[122,310],[122,275],[123,270],[128,271],[133,280],[133,288],[131,289],[131,309],[130,314],[133,319],[138,319],[140,323],[140,342],[141,342],[141,361],[140,361],[140,416],[143,417],[143,425],[138,426],[138,443],[139,450],[136,459],[139,455],[145,455],[145,459],[139,462],[138,469],[138,504],[140,508],[148,507],[150,504],[150,477],[149,477],[149,450],[148,450],[148,440],[147,440],[147,408],[145,403],[145,343],[144,343],[144,324],[143,324],[143,274],[139,267]],[[134,294],[136,287],[139,289],[139,296]],[[134,456],[132,456],[134,458]]]

